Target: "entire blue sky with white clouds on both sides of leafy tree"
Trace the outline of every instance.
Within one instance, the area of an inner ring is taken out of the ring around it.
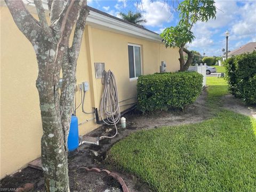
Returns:
[[[173,12],[172,1],[150,0],[87,0],[88,5],[119,17],[119,12],[127,13],[129,10],[139,11],[147,20],[143,25],[161,33],[165,27],[175,26],[179,15]],[[222,55],[222,48],[226,49],[225,31],[229,30],[230,51],[248,43],[256,42],[256,1],[215,1],[217,15],[215,20],[207,23],[198,22],[193,27],[196,37],[188,49],[206,53],[208,56]]]

